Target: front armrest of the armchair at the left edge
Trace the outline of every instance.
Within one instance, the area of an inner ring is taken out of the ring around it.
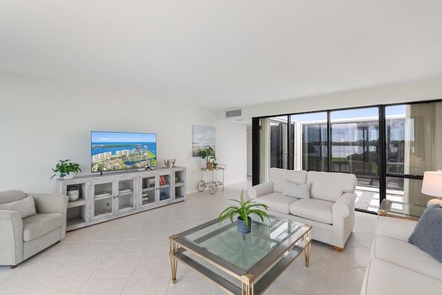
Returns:
[[[18,211],[0,210],[0,265],[23,261],[23,222]]]

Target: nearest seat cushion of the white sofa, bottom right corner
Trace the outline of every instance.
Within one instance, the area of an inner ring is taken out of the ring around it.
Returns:
[[[384,260],[370,260],[361,294],[441,294],[442,281],[394,265]]]

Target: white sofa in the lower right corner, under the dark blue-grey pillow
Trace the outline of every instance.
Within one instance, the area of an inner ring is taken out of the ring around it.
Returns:
[[[408,242],[416,224],[378,216],[361,295],[442,294],[442,263]]]

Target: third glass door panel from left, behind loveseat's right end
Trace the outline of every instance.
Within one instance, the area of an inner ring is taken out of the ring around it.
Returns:
[[[331,172],[354,173],[356,209],[377,210],[379,194],[379,108],[330,112]]]

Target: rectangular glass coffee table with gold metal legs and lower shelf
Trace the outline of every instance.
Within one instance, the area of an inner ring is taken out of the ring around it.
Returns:
[[[262,294],[302,251],[309,265],[310,225],[252,218],[251,234],[238,234],[236,222],[214,219],[171,236],[173,283],[180,261],[227,294]]]

